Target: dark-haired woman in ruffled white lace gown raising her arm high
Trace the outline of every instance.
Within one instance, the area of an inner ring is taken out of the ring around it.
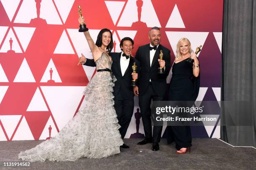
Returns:
[[[79,18],[82,23],[83,18]],[[123,140],[118,131],[113,101],[113,79],[110,69],[113,48],[112,33],[102,29],[96,45],[89,32],[84,32],[96,63],[97,73],[84,91],[86,106],[70,120],[60,132],[35,148],[20,152],[19,159],[26,161],[76,161],[79,158],[104,158],[120,153]],[[106,71],[107,70],[107,71]],[[114,80],[115,81],[115,80]],[[61,114],[61,113],[60,113]]]

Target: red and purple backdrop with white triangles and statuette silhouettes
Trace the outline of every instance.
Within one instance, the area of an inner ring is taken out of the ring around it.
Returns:
[[[0,140],[53,137],[86,104],[83,91],[95,67],[77,66],[81,53],[92,58],[78,32],[78,5],[94,41],[102,28],[113,32],[115,52],[123,37],[131,37],[135,55],[154,26],[172,63],[181,37],[193,49],[202,45],[197,100],[220,101],[223,0],[0,0]],[[140,112],[134,100],[134,113]],[[218,117],[219,106],[209,114]],[[219,125],[192,127],[192,135],[219,138]],[[142,121],[136,132],[133,115],[125,138],[140,135]]]

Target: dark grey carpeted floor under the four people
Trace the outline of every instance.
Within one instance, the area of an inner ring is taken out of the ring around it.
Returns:
[[[21,162],[18,153],[42,140],[0,142],[0,170],[255,170],[256,149],[232,147],[218,139],[193,139],[192,152],[177,154],[174,145],[162,139],[160,150],[151,151],[151,144],[136,145],[141,139],[125,139],[130,149],[102,159],[81,158],[77,162],[31,163],[30,167],[6,167],[6,162]]]

